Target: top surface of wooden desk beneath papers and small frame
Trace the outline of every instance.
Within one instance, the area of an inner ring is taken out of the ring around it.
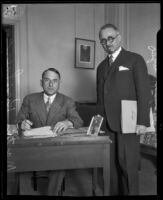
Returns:
[[[25,146],[51,146],[51,145],[78,145],[78,144],[109,144],[111,140],[109,136],[93,136],[85,133],[63,135],[48,138],[24,138],[18,137],[14,144],[9,144],[9,147],[25,147]]]

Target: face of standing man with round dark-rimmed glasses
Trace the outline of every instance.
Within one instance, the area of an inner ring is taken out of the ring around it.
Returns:
[[[108,54],[114,53],[119,47],[121,36],[113,28],[106,28],[101,31],[100,43]]]

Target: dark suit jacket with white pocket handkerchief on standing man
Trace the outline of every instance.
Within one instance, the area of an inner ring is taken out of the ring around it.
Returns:
[[[119,71],[119,67],[129,70]],[[122,48],[109,66],[108,57],[97,69],[97,102],[105,107],[113,131],[121,130],[121,100],[137,100],[137,124],[149,126],[150,84],[142,56]]]

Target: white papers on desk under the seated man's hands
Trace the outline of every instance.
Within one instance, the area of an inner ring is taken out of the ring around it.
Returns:
[[[24,131],[24,136],[28,138],[46,138],[46,137],[56,137],[57,134],[51,130],[50,126],[44,126],[40,128],[33,128]]]

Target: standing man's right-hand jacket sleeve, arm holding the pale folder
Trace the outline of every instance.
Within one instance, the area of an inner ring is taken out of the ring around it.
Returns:
[[[149,108],[151,93],[147,66],[143,57],[138,56],[133,71],[137,95],[137,124],[149,127]]]

